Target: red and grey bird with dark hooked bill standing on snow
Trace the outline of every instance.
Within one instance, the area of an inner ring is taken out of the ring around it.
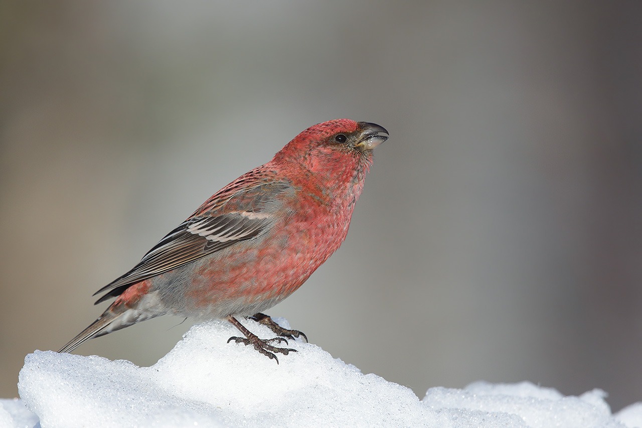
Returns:
[[[290,296],[345,239],[383,127],[349,119],[301,132],[272,161],[241,175],[169,232],[134,268],[94,294],[114,302],[59,352],[164,314],[227,319],[271,359],[299,337],[262,311]],[[279,337],[259,339],[238,317]],[[229,342],[228,341],[228,342]],[[306,337],[307,341],[307,337]],[[278,359],[277,359],[278,362]]]

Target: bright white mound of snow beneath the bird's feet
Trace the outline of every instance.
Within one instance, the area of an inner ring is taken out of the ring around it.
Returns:
[[[642,403],[612,415],[599,389],[564,397],[530,382],[475,382],[430,388],[419,400],[314,344],[290,341],[299,352],[276,364],[226,343],[237,334],[225,321],[196,325],[152,367],[36,351],[20,372],[22,400],[0,400],[0,427],[642,428]]]

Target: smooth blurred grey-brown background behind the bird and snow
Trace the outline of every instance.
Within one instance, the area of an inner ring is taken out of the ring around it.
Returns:
[[[270,314],[419,397],[642,400],[640,76],[637,1],[3,1],[0,397],[209,195],[348,117],[390,140],[345,244]],[[153,364],[180,321],[78,353]]]

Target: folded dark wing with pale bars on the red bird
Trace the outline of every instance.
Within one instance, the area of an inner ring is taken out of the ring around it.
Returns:
[[[156,244],[134,268],[94,293],[106,292],[96,303],[119,296],[130,285],[152,278],[206,254],[255,238],[275,220],[277,195],[291,189],[287,183],[263,183],[241,190],[225,188]],[[225,190],[236,192],[225,197]],[[222,194],[221,194],[222,193]],[[221,201],[222,199],[222,201]],[[216,203],[214,203],[216,202]]]

